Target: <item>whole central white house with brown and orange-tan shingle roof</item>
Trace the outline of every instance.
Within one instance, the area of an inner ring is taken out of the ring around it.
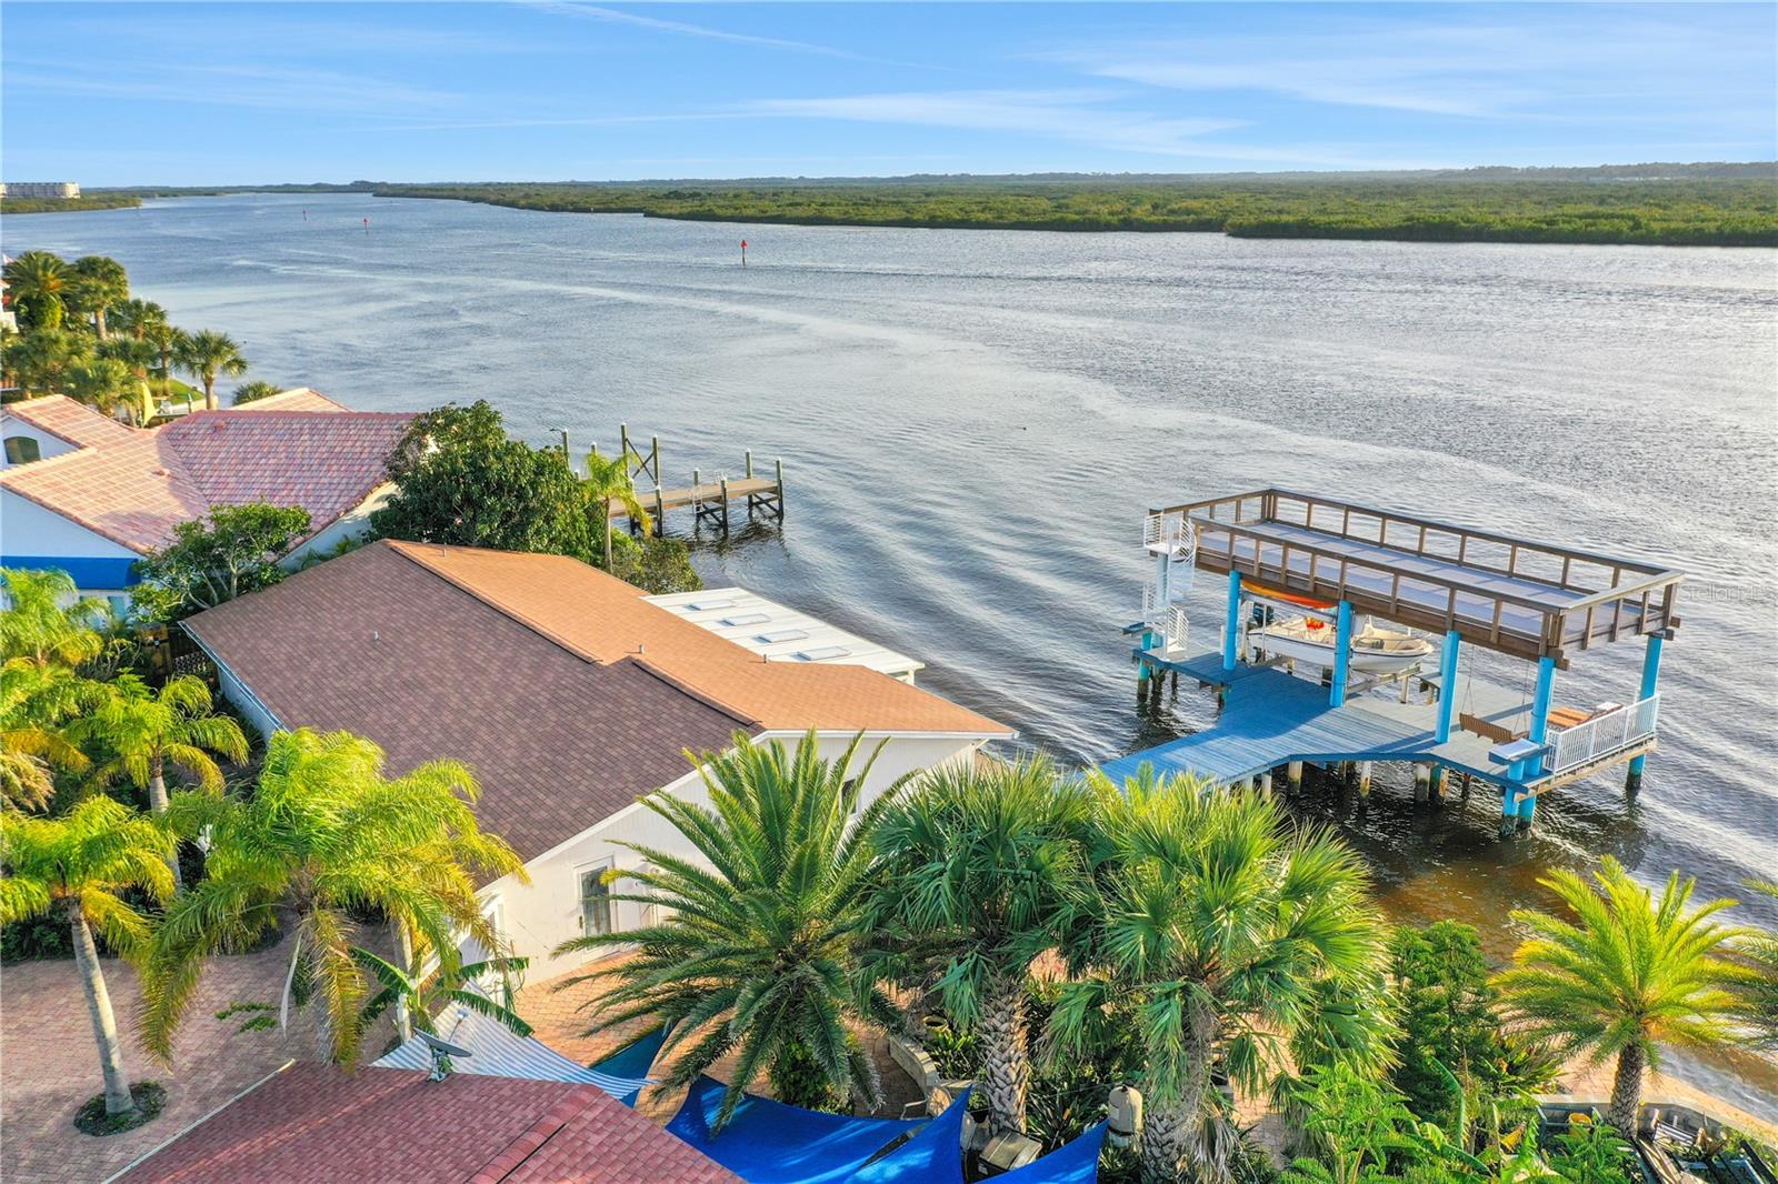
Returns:
[[[884,745],[869,800],[1012,736],[845,654],[756,652],[560,555],[379,540],[185,629],[261,731],[352,731],[382,745],[391,773],[469,764],[482,827],[530,878],[485,885],[484,903],[535,978],[573,967],[551,958],[571,937],[644,924],[603,880],[640,866],[619,843],[692,855],[640,805],[654,791],[704,796],[686,750],[795,745],[813,729],[837,756],[862,734],[862,754]]]

